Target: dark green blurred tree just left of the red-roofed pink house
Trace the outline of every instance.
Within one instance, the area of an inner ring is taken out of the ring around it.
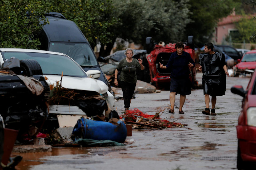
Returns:
[[[228,16],[240,0],[190,0],[189,16],[192,22],[186,25],[185,36],[193,35],[199,46],[210,41],[219,19]]]

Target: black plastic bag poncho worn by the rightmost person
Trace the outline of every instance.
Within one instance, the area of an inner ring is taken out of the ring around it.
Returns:
[[[226,74],[223,66],[226,64],[222,53],[200,54],[199,64],[202,66],[203,94],[223,96],[226,92]]]

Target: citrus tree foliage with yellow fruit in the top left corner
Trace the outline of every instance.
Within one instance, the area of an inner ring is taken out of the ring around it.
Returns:
[[[37,49],[40,42],[33,33],[47,23],[43,14],[49,9],[39,0],[0,0],[0,47]]]

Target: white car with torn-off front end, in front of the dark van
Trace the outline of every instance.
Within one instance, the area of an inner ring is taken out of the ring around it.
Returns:
[[[33,49],[0,48],[1,66],[4,61],[12,57],[18,58],[19,60],[36,60],[41,66],[43,76],[47,77],[47,83],[49,85],[56,84],[57,81],[60,81],[63,72],[62,87],[79,91],[91,91],[93,94],[97,92],[100,95],[107,96],[107,106],[113,110],[115,103],[114,96],[108,91],[108,86],[105,83],[96,79],[99,77],[100,71],[89,70],[85,72],[72,58],[63,53]],[[77,106],[60,107],[58,105],[51,105],[49,113],[62,115],[74,113],[79,115],[85,114]]]

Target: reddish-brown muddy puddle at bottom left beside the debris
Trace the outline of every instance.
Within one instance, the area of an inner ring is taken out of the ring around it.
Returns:
[[[87,154],[87,148],[80,147],[64,147],[64,148],[52,148],[51,152],[37,152],[37,153],[12,153],[11,157],[20,155],[22,156],[21,162],[15,166],[17,170],[27,170],[31,165],[39,165],[40,158],[45,156],[58,156],[58,155],[69,155],[69,154]]]

